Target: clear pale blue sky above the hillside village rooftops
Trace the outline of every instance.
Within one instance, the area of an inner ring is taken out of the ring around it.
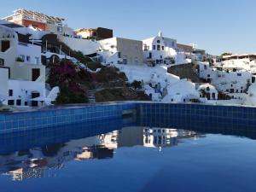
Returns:
[[[62,16],[73,28],[113,28],[122,38],[149,38],[161,30],[211,54],[256,53],[255,0],[8,0],[0,17],[19,8]]]

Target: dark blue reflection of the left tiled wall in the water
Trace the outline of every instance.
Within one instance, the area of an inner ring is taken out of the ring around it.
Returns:
[[[31,131],[19,131],[0,135],[0,154],[9,154],[27,148],[40,148],[54,143],[94,137],[126,126],[123,119],[102,119],[84,124],[61,125]]]

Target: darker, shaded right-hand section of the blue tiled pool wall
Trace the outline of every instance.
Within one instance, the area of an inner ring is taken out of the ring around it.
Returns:
[[[181,129],[256,130],[256,108],[202,104],[140,103],[140,125]]]

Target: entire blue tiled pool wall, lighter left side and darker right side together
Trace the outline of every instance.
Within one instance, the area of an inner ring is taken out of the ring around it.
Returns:
[[[183,129],[256,130],[256,108],[152,102],[113,103],[27,113],[0,113],[0,133],[121,119],[136,109],[139,125]]]

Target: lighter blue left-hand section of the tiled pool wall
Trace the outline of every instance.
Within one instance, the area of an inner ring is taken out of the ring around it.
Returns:
[[[129,109],[136,109],[136,104],[106,104],[26,113],[0,113],[0,133],[29,131],[102,119],[120,119],[123,110]]]

